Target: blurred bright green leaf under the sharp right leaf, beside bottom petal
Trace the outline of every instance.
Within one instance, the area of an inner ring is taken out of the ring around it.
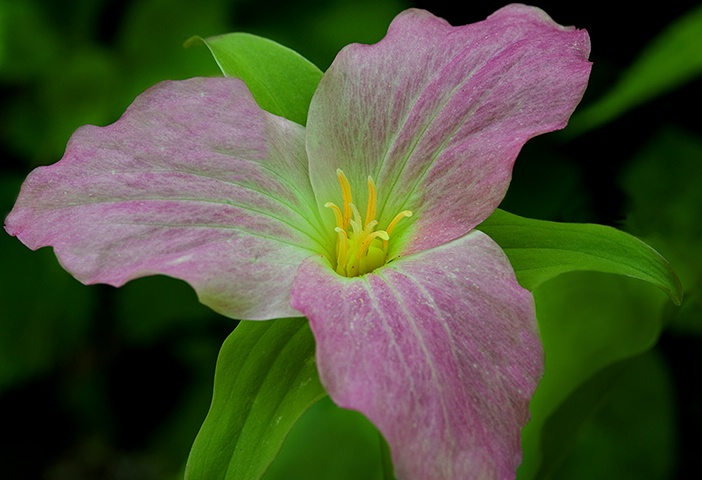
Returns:
[[[655,345],[667,302],[638,281],[569,272],[534,290],[544,376],[522,431],[520,480],[548,478],[616,385],[618,363]]]

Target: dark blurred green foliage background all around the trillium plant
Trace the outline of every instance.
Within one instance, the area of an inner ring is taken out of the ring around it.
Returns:
[[[690,115],[702,108],[699,6],[637,9],[634,22],[624,6],[605,14],[586,2],[534,3],[589,30],[594,69],[581,115],[598,120],[529,142],[502,207],[624,228],[671,262],[685,297],[675,308],[653,287],[588,273],[537,290],[547,368],[534,408],[548,415],[534,417],[547,435],[525,445],[538,459],[525,469],[538,478],[693,478],[702,449],[702,124]],[[465,24],[503,4],[412,5]],[[0,212],[79,125],[114,121],[158,81],[217,75],[205,48],[182,47],[191,36],[270,37],[324,70],[343,45],[380,39],[406,6],[0,0]],[[0,478],[182,478],[234,323],[163,277],[84,287],[50,250],[29,252],[8,236],[0,265]],[[661,319],[660,341],[641,356]],[[601,348],[613,338],[618,348]],[[380,478],[378,445],[361,415],[323,401],[293,428],[268,478]]]

